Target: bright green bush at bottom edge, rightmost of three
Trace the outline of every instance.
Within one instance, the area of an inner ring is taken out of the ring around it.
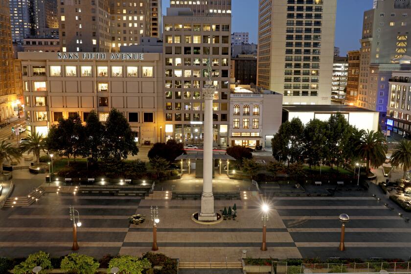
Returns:
[[[141,274],[144,269],[150,268],[151,263],[147,258],[138,259],[130,255],[124,255],[115,257],[110,260],[109,273],[114,267],[119,269],[119,273],[122,274]]]

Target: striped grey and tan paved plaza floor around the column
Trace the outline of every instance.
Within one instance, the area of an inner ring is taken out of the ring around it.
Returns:
[[[381,200],[372,197],[376,193]],[[215,201],[216,210],[237,205],[236,220],[202,226],[190,220],[200,201],[140,200],[138,197],[46,194],[36,204],[0,210],[0,256],[22,257],[38,250],[52,256],[71,252],[73,205],[82,221],[78,229],[80,253],[135,254],[151,250],[150,206],[159,206],[159,252],[183,262],[238,261],[250,257],[401,258],[411,255],[411,224],[376,185],[369,191],[337,192],[336,197],[273,197],[267,223],[268,251],[260,251],[261,201]],[[384,203],[395,208],[391,211]],[[145,214],[147,222],[129,225],[127,217]],[[351,221],[345,235],[346,251],[337,250],[340,213]],[[410,213],[403,212],[405,216]]]

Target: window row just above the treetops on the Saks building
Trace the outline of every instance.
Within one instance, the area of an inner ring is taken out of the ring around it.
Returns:
[[[34,121],[39,122],[39,121],[48,121],[48,112],[45,111],[26,111],[25,112],[25,118],[26,120],[31,120],[31,114],[34,115]],[[82,113],[82,120],[83,122],[87,121],[87,118],[89,117],[90,112],[83,112]],[[154,123],[154,113],[152,112],[144,112],[142,115],[142,119],[139,118],[138,112],[129,112],[128,115],[128,121],[129,122],[134,122],[134,123]],[[53,122],[58,122],[60,119],[65,118],[63,115],[63,112],[53,112],[52,114],[52,121]],[[75,115],[80,115],[79,112],[68,112],[68,117],[74,117]],[[124,115],[124,113],[123,113]],[[98,112],[98,117],[99,120],[102,122],[105,122],[109,116],[108,112]]]

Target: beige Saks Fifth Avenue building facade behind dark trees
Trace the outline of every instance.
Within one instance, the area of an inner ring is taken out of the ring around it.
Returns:
[[[160,140],[160,53],[19,52],[19,59],[28,133],[46,136],[59,118],[76,113],[84,122],[92,110],[105,121],[116,108],[139,142]]]

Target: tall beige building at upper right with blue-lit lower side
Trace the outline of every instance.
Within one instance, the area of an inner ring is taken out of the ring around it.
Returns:
[[[376,1],[374,9],[364,12],[358,106],[380,112],[382,129],[388,105],[388,79],[400,70],[397,61],[410,52],[410,0]]]

